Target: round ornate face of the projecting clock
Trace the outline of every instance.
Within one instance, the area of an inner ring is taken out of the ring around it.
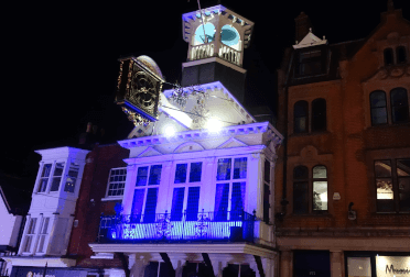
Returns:
[[[155,82],[143,71],[137,71],[131,82],[131,99],[134,104],[152,111],[155,106]]]

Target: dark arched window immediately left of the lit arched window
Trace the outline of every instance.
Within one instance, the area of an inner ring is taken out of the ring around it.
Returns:
[[[293,213],[309,212],[309,170],[305,166],[293,169]]]

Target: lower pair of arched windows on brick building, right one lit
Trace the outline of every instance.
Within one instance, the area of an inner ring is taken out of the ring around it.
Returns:
[[[327,170],[317,165],[312,168],[312,177],[308,167],[293,169],[293,213],[323,213],[327,211]]]

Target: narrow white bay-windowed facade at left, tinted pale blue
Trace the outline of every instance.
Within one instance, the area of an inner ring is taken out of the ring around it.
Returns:
[[[88,151],[60,147],[36,153],[42,155],[42,159],[18,256],[4,258],[9,273],[12,266],[44,266],[47,263],[48,266],[62,267],[75,264],[75,261],[60,257],[67,251]],[[41,258],[43,256],[47,258]]]

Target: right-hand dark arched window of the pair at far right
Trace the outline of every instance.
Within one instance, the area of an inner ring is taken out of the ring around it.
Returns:
[[[407,90],[395,88],[390,91],[391,120],[393,123],[407,122],[409,120],[409,101]]]

